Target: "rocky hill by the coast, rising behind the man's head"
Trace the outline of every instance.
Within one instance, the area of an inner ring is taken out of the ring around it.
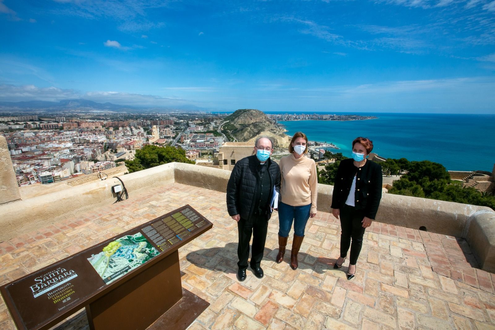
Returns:
[[[275,147],[287,148],[291,139],[260,110],[241,109],[225,117],[223,128],[239,141],[254,141],[260,135],[273,138]]]

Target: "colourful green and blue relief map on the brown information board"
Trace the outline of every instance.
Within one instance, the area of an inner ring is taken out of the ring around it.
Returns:
[[[108,284],[159,254],[140,232],[108,243],[88,261]]]

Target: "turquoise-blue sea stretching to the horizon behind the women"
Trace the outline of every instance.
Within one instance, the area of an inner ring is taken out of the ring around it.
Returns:
[[[373,141],[373,152],[385,158],[428,160],[444,165],[447,170],[493,170],[495,114],[332,113],[373,115],[378,119],[278,123],[285,126],[289,135],[302,131],[311,141],[331,142],[340,150],[330,151],[342,152],[347,157],[352,140],[364,136]]]

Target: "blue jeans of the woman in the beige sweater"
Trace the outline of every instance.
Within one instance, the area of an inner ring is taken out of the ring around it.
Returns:
[[[304,236],[304,228],[309,219],[311,204],[303,206],[290,206],[280,202],[279,204],[279,236],[289,236],[292,221],[294,220],[294,234]]]

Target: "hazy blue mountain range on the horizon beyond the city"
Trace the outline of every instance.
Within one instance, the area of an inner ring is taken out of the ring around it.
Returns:
[[[194,105],[178,105],[174,107],[132,107],[121,106],[113,103],[98,103],[85,99],[62,100],[60,102],[50,101],[22,101],[22,102],[0,102],[0,111],[16,110],[26,112],[28,110],[107,110],[116,112],[144,112],[144,111],[208,111]]]

